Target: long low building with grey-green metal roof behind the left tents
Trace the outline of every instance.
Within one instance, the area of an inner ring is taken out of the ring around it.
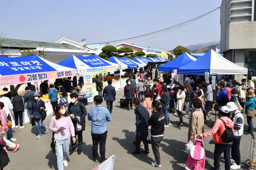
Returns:
[[[4,57],[20,57],[23,50],[30,50],[40,53],[44,51],[46,56],[44,58],[53,63],[59,63],[71,55],[90,56],[94,55],[96,51],[87,50],[76,47],[66,43],[53,43],[42,41],[29,41],[2,38],[0,39],[2,50],[0,49],[0,56]],[[3,52],[2,52],[3,51]]]

